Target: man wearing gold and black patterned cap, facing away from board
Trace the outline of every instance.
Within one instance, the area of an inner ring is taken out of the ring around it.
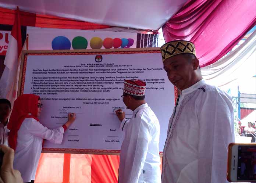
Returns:
[[[224,183],[228,144],[234,142],[232,98],[206,83],[195,45],[161,47],[164,70],[180,90],[164,146],[162,183]]]

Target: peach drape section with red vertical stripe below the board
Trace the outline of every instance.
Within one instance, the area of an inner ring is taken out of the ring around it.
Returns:
[[[42,153],[35,183],[91,183],[92,155]],[[68,162],[67,162],[68,161]],[[66,166],[67,164],[70,167]],[[68,169],[68,171],[67,171]]]

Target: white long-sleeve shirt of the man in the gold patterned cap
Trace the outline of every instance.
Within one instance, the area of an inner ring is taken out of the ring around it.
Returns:
[[[162,183],[225,183],[234,142],[232,98],[200,80],[182,90],[170,118]]]

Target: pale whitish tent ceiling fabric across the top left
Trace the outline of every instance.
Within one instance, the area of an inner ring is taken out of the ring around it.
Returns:
[[[1,0],[0,7],[96,24],[158,30],[187,0]]]

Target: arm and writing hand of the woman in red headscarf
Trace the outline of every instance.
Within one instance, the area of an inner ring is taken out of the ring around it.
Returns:
[[[68,114],[68,121],[57,129],[48,129],[40,122],[30,118],[30,121],[26,124],[26,130],[28,133],[41,137],[42,139],[49,140],[52,143],[61,144],[65,129],[75,121],[75,118],[75,114]]]

